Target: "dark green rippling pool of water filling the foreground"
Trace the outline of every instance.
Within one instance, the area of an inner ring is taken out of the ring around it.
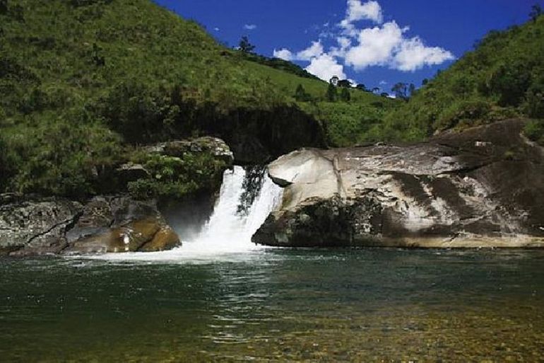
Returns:
[[[542,362],[544,252],[0,260],[4,362]]]

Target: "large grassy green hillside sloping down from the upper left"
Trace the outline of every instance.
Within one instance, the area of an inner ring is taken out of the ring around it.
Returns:
[[[254,60],[149,0],[0,0],[0,192],[100,192],[135,145],[191,135],[280,152],[319,139],[313,122],[329,144],[364,142],[396,107],[357,90],[327,102],[327,83]]]

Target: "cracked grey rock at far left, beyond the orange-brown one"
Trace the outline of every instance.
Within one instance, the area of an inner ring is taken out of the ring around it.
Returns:
[[[10,201],[0,205],[0,249],[18,255],[58,253],[66,246],[66,230],[83,210],[64,198]]]

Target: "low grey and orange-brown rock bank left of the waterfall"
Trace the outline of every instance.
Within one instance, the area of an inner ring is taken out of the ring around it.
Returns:
[[[153,201],[20,198],[0,207],[0,254],[152,252],[180,244]]]

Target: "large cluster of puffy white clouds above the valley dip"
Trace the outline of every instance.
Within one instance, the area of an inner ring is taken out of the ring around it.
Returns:
[[[377,1],[347,0],[346,15],[331,34],[335,44],[325,50],[321,40],[300,52],[274,50],[274,57],[309,62],[307,71],[321,79],[336,75],[345,78],[344,66],[362,71],[367,67],[389,67],[398,71],[415,71],[425,66],[442,64],[454,59],[454,54],[441,47],[428,47],[418,36],[406,35],[396,21],[383,23],[382,7]],[[377,23],[372,28],[357,28],[355,22]]]

